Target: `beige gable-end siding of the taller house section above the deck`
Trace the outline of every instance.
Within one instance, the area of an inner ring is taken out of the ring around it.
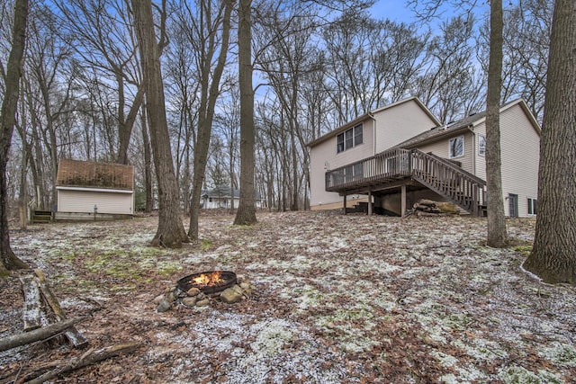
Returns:
[[[374,113],[376,153],[437,127],[435,121],[414,100]]]

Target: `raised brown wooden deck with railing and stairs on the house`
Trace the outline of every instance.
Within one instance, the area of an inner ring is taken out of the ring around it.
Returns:
[[[419,183],[475,216],[485,205],[486,182],[442,157],[396,148],[326,173],[326,191],[342,196]]]

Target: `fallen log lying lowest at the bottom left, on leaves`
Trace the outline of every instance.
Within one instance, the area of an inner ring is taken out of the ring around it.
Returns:
[[[36,379],[28,381],[28,384],[41,384],[44,381],[54,379],[58,375],[62,373],[66,373],[69,371],[74,371],[79,368],[84,368],[88,365],[94,364],[94,362],[101,362],[103,360],[109,359],[114,356],[118,356],[121,353],[132,353],[139,349],[143,344],[138,342],[132,343],[124,343],[124,344],[116,344],[109,347],[104,347],[97,351],[89,350],[86,353],[82,354],[82,356],[77,357],[76,359],[72,359],[72,361],[67,362],[67,364],[63,365],[62,367],[58,367],[55,370],[48,371]]]

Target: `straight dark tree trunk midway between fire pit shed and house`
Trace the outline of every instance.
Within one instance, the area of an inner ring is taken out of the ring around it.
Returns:
[[[254,88],[252,87],[252,0],[240,0],[238,6],[238,76],[240,89],[240,201],[235,225],[251,225],[256,219],[254,188]]]

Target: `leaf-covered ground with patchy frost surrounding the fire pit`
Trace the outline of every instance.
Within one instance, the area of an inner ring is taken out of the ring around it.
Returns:
[[[147,246],[157,218],[14,230],[14,252],[44,270],[96,347],[138,353],[56,382],[568,383],[576,380],[576,290],[521,263],[534,219],[509,219],[519,246],[485,246],[486,220],[258,212],[253,227],[203,213],[202,246]],[[237,272],[256,294],[238,304],[153,299],[183,275]],[[23,298],[1,282],[0,337],[21,332]],[[0,353],[0,378],[81,354],[41,344]],[[12,376],[11,376],[12,375]],[[1,379],[0,379],[1,380]]]

